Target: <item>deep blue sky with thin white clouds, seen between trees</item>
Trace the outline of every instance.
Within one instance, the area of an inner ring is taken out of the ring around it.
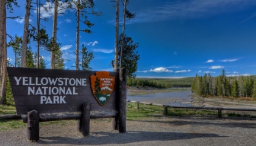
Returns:
[[[26,1],[18,2],[21,7],[7,16],[24,17]],[[94,3],[102,16],[89,16],[94,33],[80,32],[80,48],[84,44],[93,52],[90,64],[93,70],[112,71],[115,2],[96,0]],[[204,73],[218,76],[222,70],[227,76],[256,75],[255,0],[130,0],[127,9],[136,12],[136,17],[126,23],[126,34],[133,42],[139,42],[138,77],[180,78]],[[36,26],[36,15],[34,11],[31,13],[34,17],[30,16],[30,24]],[[65,62],[65,68],[74,70],[76,19],[71,10],[63,13],[58,18],[57,38],[62,43],[63,58],[70,60]],[[123,7],[120,23],[122,13]],[[52,12],[44,11],[42,15],[49,18],[43,25],[51,36]],[[23,19],[7,19],[7,34],[22,36],[23,27]],[[36,49],[34,42],[30,45]],[[50,53],[41,49],[40,55],[47,60],[49,68]],[[8,58],[14,60],[12,48],[8,48]]]

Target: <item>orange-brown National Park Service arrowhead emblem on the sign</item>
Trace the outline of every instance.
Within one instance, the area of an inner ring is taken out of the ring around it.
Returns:
[[[91,90],[100,105],[105,105],[110,99],[115,86],[115,77],[107,71],[98,71],[96,76],[91,75]]]

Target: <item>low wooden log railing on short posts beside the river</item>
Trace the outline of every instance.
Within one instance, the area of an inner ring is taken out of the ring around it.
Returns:
[[[164,105],[164,104],[154,104],[149,102],[142,102],[142,101],[130,101],[127,100],[127,102],[132,102],[137,104],[137,109],[140,108],[140,104],[146,104],[146,105],[155,105],[158,107],[164,107],[164,113],[168,113],[168,107],[169,108],[194,108],[194,109],[204,109],[204,110],[218,110],[218,117],[222,118],[222,110],[232,110],[232,111],[256,111],[255,108],[223,108],[223,107],[187,107],[187,106],[174,106],[174,105]]]

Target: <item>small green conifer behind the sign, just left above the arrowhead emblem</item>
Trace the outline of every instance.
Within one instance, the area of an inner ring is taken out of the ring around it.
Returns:
[[[82,44],[82,70],[92,70],[93,68],[89,67],[89,64],[91,60],[94,58],[93,52],[88,52],[87,47],[84,47],[84,44]]]

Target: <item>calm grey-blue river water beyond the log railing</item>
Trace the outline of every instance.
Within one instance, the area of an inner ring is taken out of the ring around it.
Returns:
[[[175,105],[175,106],[191,106],[191,90],[188,91],[172,91],[167,93],[155,93],[151,95],[133,95],[127,96],[128,100],[151,102],[154,104]]]

